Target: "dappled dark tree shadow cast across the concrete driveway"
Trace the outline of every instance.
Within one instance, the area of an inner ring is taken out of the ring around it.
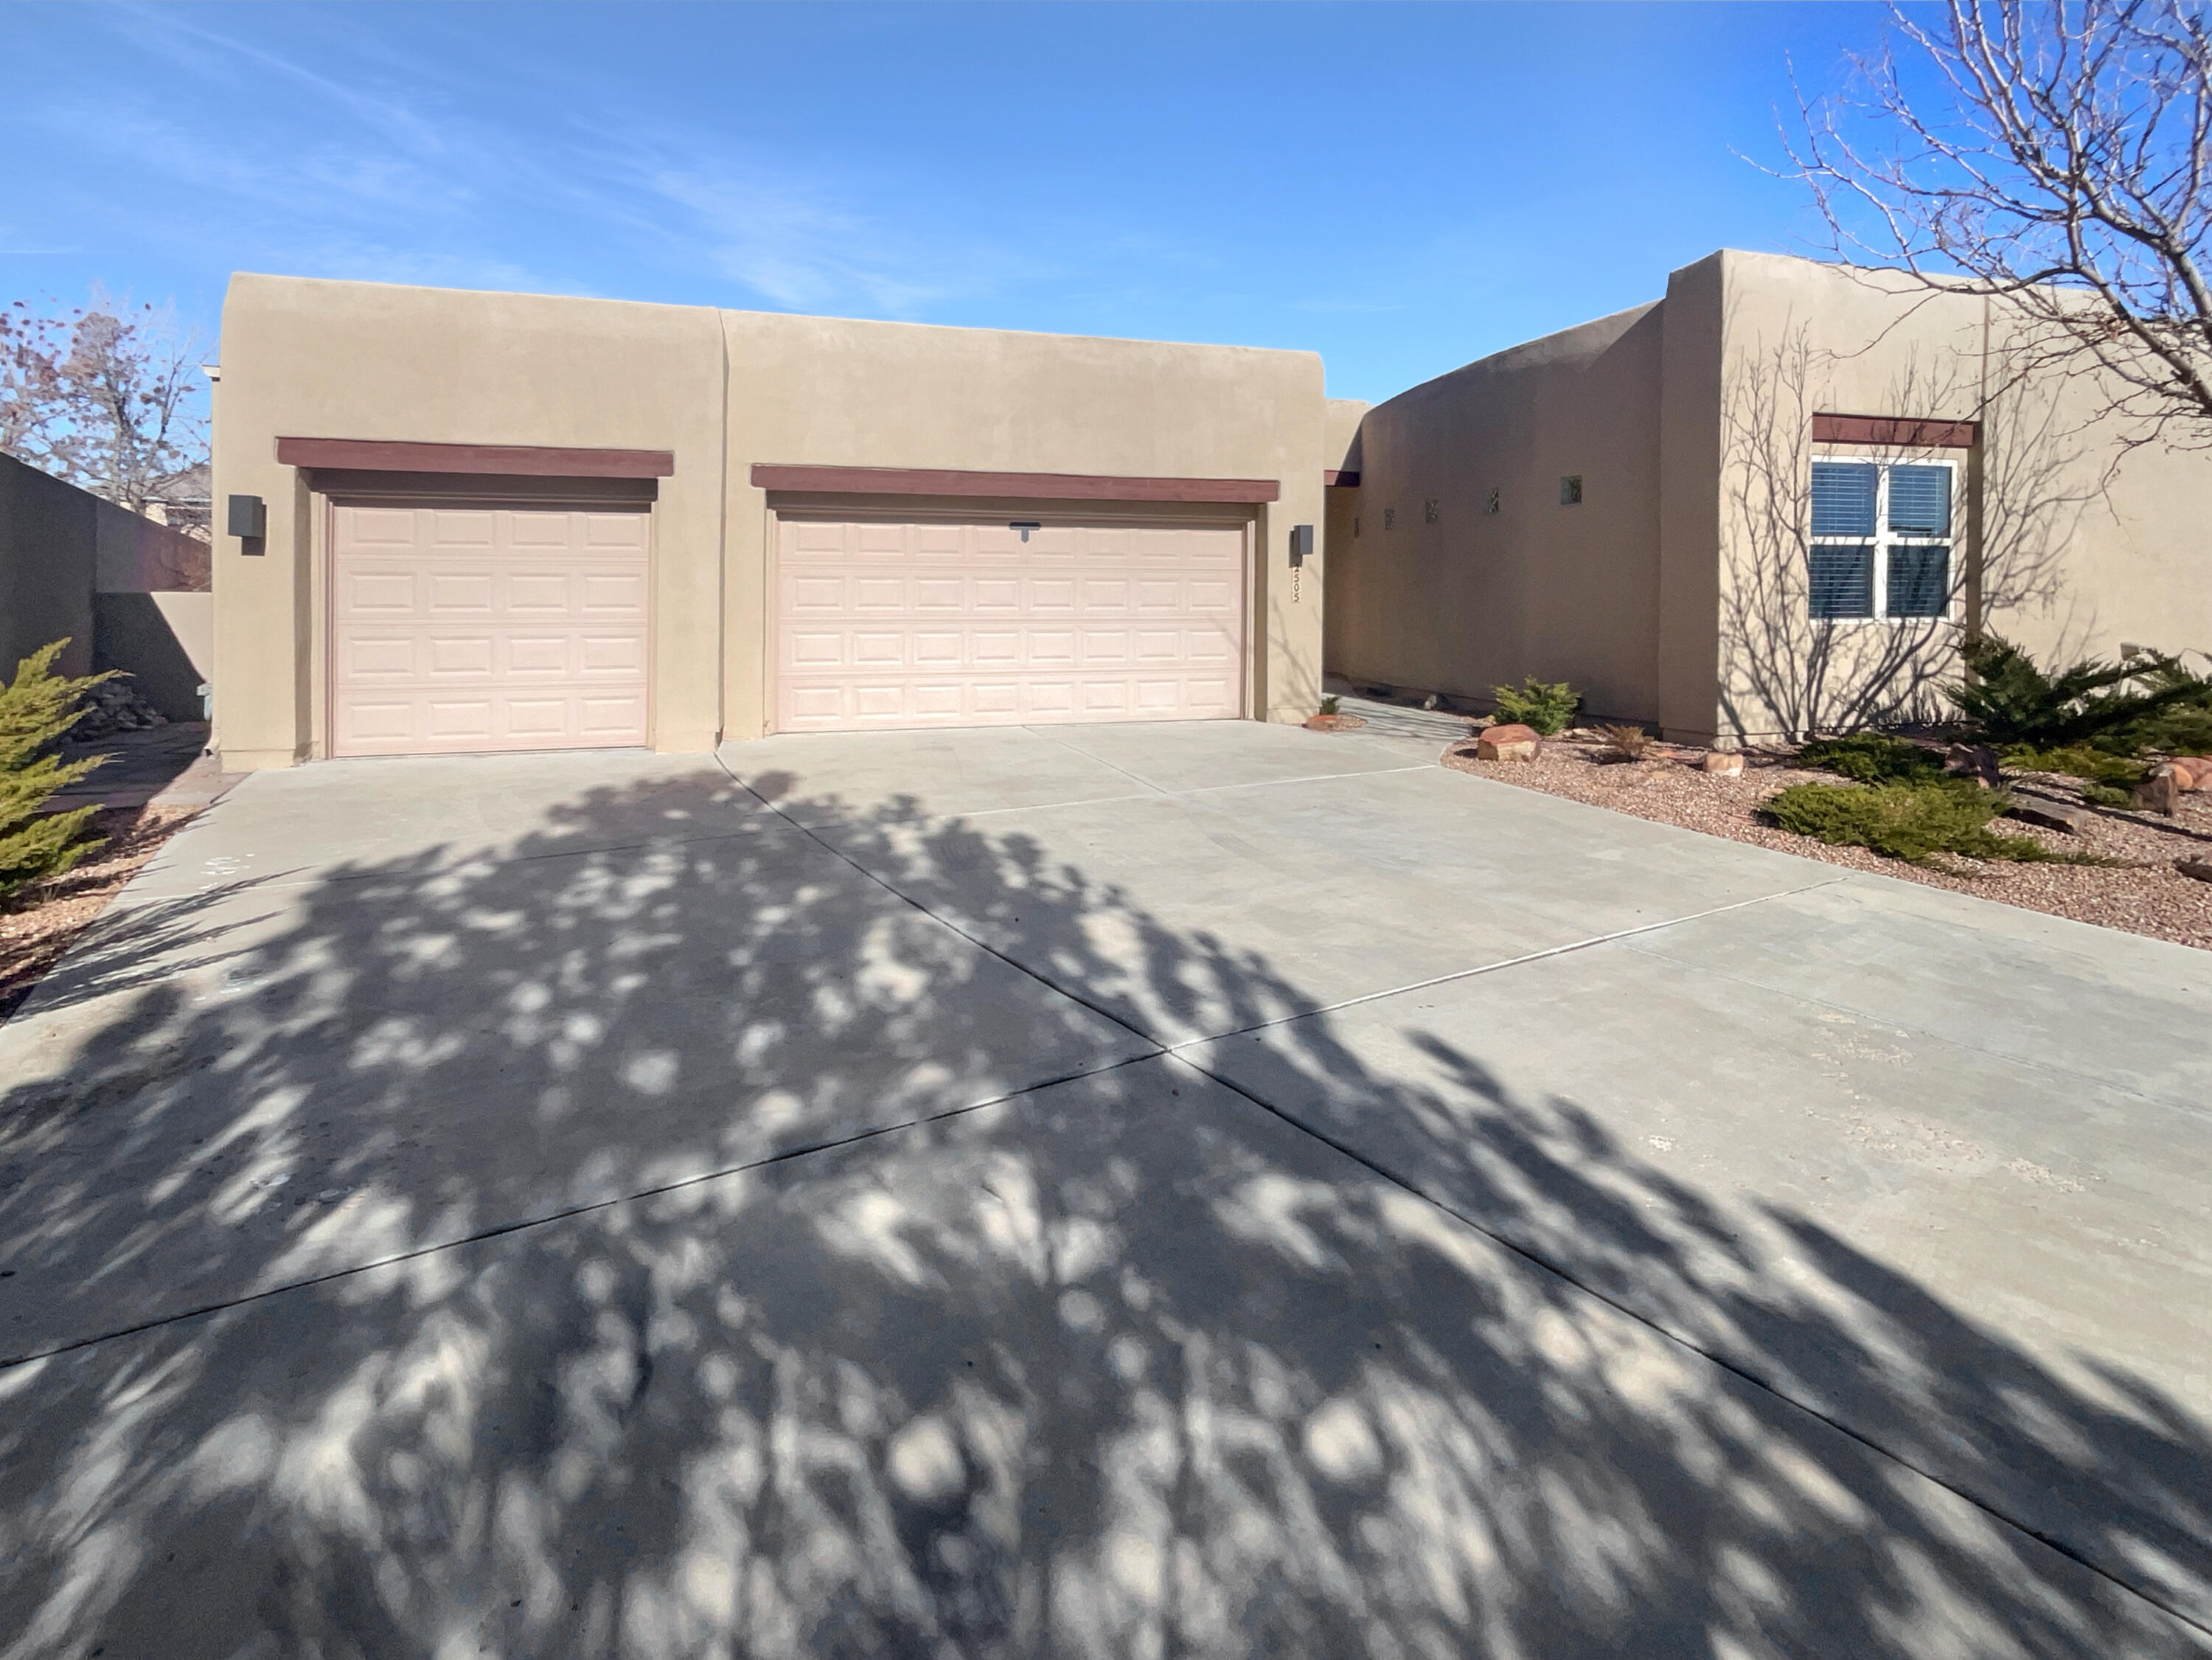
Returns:
[[[2150,1386],[1770,1206],[1783,1286],[1478,1056],[1272,1027],[1413,1127],[1394,1180],[1088,1007],[1312,1007],[1267,963],[978,821],[807,819],[602,790],[126,907],[4,1029],[0,1653],[2212,1647],[2124,1589],[2203,1618]],[[951,870],[1073,996],[907,903]],[[2020,1470],[2097,1501],[2042,1543]]]

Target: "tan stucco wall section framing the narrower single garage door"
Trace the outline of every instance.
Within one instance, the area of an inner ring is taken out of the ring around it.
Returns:
[[[239,274],[215,387],[215,737],[226,766],[323,746],[319,505],[279,436],[670,449],[653,509],[653,744],[719,722],[723,365],[714,312]],[[259,556],[221,536],[268,500]]]

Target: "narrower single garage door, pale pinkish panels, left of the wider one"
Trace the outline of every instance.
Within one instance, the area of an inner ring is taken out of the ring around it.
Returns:
[[[336,755],[646,741],[635,511],[338,507]]]

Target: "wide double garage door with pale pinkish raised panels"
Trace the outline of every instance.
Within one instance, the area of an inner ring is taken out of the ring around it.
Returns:
[[[776,730],[1241,715],[1243,540],[785,516]]]

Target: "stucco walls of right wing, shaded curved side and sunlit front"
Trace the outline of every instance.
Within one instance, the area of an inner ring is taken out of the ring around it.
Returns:
[[[2039,657],[2212,649],[2212,456],[2130,452],[2090,381],[2015,383],[2004,334],[1980,297],[1719,252],[1657,305],[1413,387],[1336,491],[1329,666],[1478,699],[1571,679],[1597,715],[1732,744],[1933,713],[1973,618]],[[1978,421],[1980,443],[1814,445],[1814,414]],[[1818,452],[1960,465],[1953,618],[1809,620]]]

